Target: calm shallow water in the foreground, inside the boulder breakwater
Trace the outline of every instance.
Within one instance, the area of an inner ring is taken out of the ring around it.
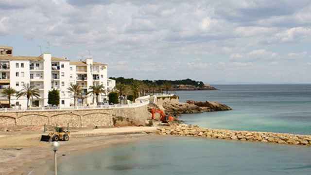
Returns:
[[[173,137],[72,156],[59,175],[310,175],[310,156],[301,146]]]

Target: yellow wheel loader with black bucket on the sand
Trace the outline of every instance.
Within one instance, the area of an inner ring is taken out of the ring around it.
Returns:
[[[56,127],[55,132],[50,132],[49,135],[42,135],[40,141],[68,141],[69,135],[69,130],[65,131],[63,127]]]

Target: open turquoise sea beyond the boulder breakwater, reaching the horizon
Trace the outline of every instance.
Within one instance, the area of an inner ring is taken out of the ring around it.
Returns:
[[[234,110],[182,115],[208,128],[311,134],[311,85],[222,85],[217,91],[177,91],[180,101],[219,101]]]

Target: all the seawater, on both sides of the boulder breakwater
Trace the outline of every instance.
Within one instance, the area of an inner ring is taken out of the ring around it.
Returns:
[[[215,85],[176,91],[186,100],[218,101],[232,111],[185,114],[207,128],[311,134],[311,85]],[[51,165],[48,175],[53,175]],[[74,155],[60,175],[311,175],[311,147],[192,137],[163,137]]]

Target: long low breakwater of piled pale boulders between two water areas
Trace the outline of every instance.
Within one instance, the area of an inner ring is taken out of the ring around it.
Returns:
[[[259,141],[279,144],[311,145],[311,135],[295,135],[271,132],[206,129],[196,125],[172,124],[158,129],[160,135],[194,136],[207,139]]]

